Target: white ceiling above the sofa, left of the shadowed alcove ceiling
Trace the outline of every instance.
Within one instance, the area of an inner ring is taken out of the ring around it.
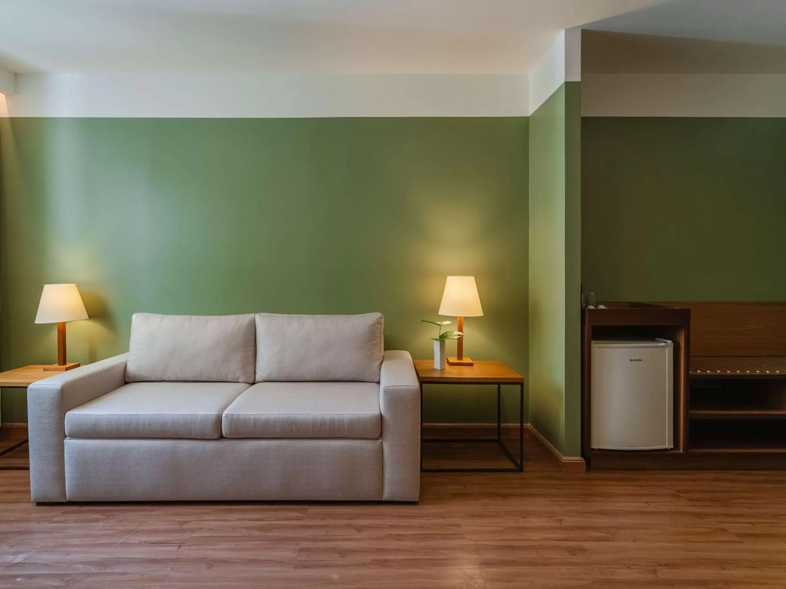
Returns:
[[[0,65],[20,73],[520,74],[559,31],[663,2],[0,0]]]

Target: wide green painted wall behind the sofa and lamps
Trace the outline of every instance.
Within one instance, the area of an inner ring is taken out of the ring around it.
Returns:
[[[465,351],[526,374],[527,125],[6,119],[0,364],[55,360],[54,326],[33,323],[53,282],[77,283],[91,316],[68,327],[70,360],[125,351],[137,311],[378,310],[388,349],[429,357],[418,321],[446,275],[473,274],[486,314]],[[26,419],[24,392],[3,391],[2,416]],[[429,393],[429,421],[493,418],[461,387]]]

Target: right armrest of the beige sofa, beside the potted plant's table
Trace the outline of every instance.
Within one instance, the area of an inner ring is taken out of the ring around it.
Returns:
[[[380,412],[383,499],[417,501],[421,495],[421,386],[409,352],[384,353]]]

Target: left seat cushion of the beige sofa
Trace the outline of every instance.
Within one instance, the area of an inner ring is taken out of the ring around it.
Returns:
[[[221,414],[242,382],[132,382],[65,414],[65,435],[91,437],[221,437]]]

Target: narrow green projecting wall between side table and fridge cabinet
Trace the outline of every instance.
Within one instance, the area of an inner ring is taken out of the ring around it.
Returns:
[[[581,89],[566,82],[530,117],[530,421],[579,455]]]

